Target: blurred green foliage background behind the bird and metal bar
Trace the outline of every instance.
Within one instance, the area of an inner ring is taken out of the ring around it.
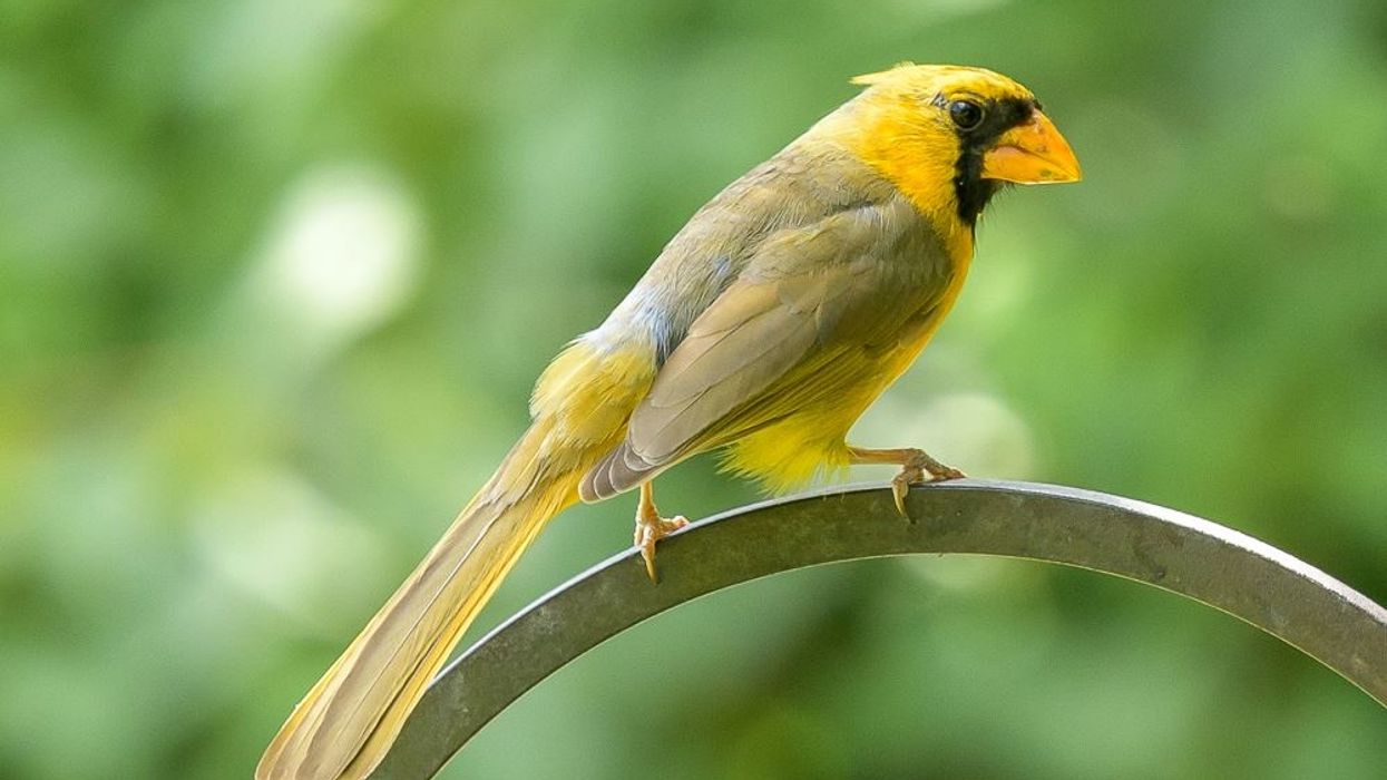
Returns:
[[[1387,6],[0,1],[0,777],[248,777],[694,210],[900,60],[1046,103],[857,429],[1205,515],[1387,601]],[[885,479],[884,470],[856,475]],[[755,497],[696,461],[662,507]],[[472,636],[630,540],[544,534]],[[999,559],[666,615],[445,777],[1380,777],[1387,713]]]

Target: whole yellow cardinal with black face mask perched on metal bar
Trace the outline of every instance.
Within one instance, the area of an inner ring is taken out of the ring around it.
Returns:
[[[651,480],[721,450],[785,490],[821,468],[960,472],[845,441],[949,314],[974,226],[1006,182],[1075,182],[1069,144],[1024,86],[904,64],[732,182],[596,330],[540,378],[533,423],[442,540],[275,736],[261,780],[365,777],[467,623],[555,514],[639,489],[635,543],[681,526]]]

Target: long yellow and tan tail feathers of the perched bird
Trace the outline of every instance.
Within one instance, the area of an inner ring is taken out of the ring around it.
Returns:
[[[257,780],[366,777],[424,687],[545,522],[577,501],[583,452],[537,422],[448,533],[294,708]]]

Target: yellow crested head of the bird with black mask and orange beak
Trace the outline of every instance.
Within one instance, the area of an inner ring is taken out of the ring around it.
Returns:
[[[936,222],[972,230],[1006,183],[1078,182],[1079,161],[1035,94],[982,68],[903,64],[827,121],[865,162]]]

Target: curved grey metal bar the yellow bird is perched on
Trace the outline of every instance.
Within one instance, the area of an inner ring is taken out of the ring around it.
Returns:
[[[603,640],[700,595],[791,569],[910,554],[1031,558],[1193,598],[1280,637],[1387,706],[1387,609],[1236,530],[1103,493],[958,480],[910,493],[856,486],[767,501],[660,541],[662,582],[628,550],[487,634],[424,694],[372,774],[433,777],[510,702]]]

